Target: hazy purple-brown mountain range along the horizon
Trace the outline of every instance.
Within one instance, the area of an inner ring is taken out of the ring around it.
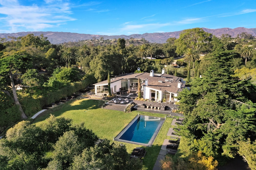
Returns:
[[[217,37],[220,37],[222,34],[229,34],[232,37],[237,37],[237,34],[241,34],[242,32],[247,32],[249,34],[252,34],[252,36],[256,37],[256,28],[244,28],[244,27],[238,27],[238,28],[219,28],[219,29],[208,29],[203,28],[205,32],[212,33],[213,35],[216,35]],[[1,38],[8,39],[8,36],[11,37],[19,37],[19,36],[25,36],[27,34],[33,33],[36,36],[39,36],[41,34],[44,35],[44,37],[48,37],[48,40],[52,44],[60,44],[63,42],[75,42],[80,40],[90,40],[94,37],[96,39],[100,39],[100,37],[103,37],[104,40],[107,39],[118,39],[118,38],[124,38],[124,39],[141,39],[144,38],[148,40],[149,42],[155,42],[155,43],[165,43],[166,40],[170,37],[176,37],[179,38],[179,33],[182,31],[175,31],[175,32],[164,32],[164,33],[144,33],[144,34],[132,34],[132,35],[92,35],[92,34],[78,34],[78,33],[71,33],[71,32],[17,32],[17,33],[0,33]]]

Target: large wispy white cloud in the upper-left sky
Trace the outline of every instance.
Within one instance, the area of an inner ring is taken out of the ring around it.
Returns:
[[[0,0],[0,24],[9,28],[5,32],[58,27],[67,21],[76,20],[69,16],[72,14],[70,6],[61,0],[45,0],[40,5],[29,6],[21,5],[17,0]]]

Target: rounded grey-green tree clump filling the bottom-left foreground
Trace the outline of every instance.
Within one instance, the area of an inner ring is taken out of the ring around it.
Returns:
[[[91,130],[71,122],[51,115],[40,126],[22,121],[10,128],[0,140],[1,169],[141,169],[125,146],[95,144]]]

